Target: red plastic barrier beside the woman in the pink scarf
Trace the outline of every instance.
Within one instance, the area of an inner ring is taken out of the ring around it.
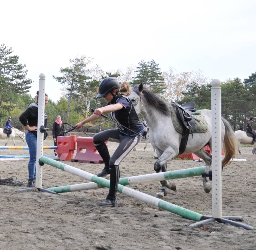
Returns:
[[[58,136],[55,152],[61,161],[70,161],[76,150],[76,135]]]

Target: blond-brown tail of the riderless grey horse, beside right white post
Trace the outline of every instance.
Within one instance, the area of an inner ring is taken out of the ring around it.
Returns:
[[[222,160],[222,166],[225,167],[230,164],[230,160],[235,158],[237,148],[238,148],[238,141],[234,135],[234,131],[230,125],[230,123],[221,118],[222,122],[225,126],[225,135],[224,135],[224,143],[223,143],[223,151],[224,151],[224,158]]]

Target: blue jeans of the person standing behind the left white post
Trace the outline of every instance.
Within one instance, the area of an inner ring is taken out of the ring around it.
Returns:
[[[29,149],[28,178],[35,179],[36,178],[36,143],[37,143],[36,135],[28,131],[26,133],[26,141]]]

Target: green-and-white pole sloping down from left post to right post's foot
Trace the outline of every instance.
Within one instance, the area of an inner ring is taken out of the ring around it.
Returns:
[[[102,177],[97,177],[94,174],[88,173],[84,170],[77,169],[75,167],[69,166],[69,165],[61,163],[61,162],[56,162],[56,161],[54,161],[52,159],[49,159],[45,156],[42,156],[40,158],[40,161],[43,162],[43,163],[46,163],[50,166],[59,168],[59,169],[61,169],[63,171],[66,171],[68,173],[71,173],[71,174],[74,174],[76,176],[87,179],[89,181],[93,181],[93,182],[99,184],[100,186],[109,188],[110,181],[107,180],[107,179],[104,179]],[[139,192],[139,191],[134,190],[132,188],[123,186],[121,184],[118,184],[117,191],[120,192],[120,193],[124,193],[128,196],[131,196],[135,199],[138,199],[140,201],[151,204],[153,206],[156,206],[158,208],[162,208],[162,209],[167,210],[169,212],[172,212],[174,214],[180,215],[184,218],[188,218],[190,220],[200,221],[200,220],[203,220],[205,218],[203,215],[201,215],[199,213],[188,210],[186,208],[182,208],[182,207],[177,206],[175,204],[172,204],[170,202],[163,201],[161,199],[158,199],[158,198],[153,197],[151,195]]]

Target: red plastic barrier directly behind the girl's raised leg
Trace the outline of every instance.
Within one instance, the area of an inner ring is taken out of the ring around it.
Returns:
[[[106,145],[108,146],[107,142]],[[92,137],[77,137],[76,156],[72,162],[103,163],[103,160],[93,144]]]

